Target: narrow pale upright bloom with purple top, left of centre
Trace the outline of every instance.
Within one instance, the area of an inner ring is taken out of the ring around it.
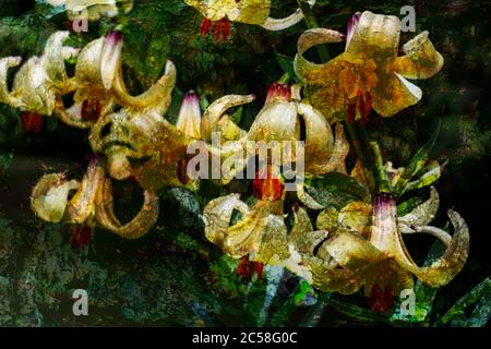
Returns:
[[[182,100],[176,128],[190,137],[201,139],[200,99],[193,91],[185,94]]]

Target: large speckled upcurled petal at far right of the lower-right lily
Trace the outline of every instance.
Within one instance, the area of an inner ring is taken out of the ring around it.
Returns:
[[[454,226],[454,234],[445,253],[428,267],[418,267],[406,261],[396,261],[407,270],[416,275],[422,282],[431,287],[448,284],[464,267],[469,253],[469,228],[465,220],[454,210],[448,210],[448,217]]]

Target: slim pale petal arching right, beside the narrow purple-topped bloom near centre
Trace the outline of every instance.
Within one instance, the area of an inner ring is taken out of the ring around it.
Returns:
[[[232,107],[249,104],[255,99],[254,95],[229,95],[212,103],[201,120],[201,135],[204,141],[212,140],[212,133],[219,131],[217,125],[221,116]]]

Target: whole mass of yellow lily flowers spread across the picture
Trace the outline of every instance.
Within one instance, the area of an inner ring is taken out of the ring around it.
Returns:
[[[268,17],[270,1],[185,2],[209,21],[227,17],[266,28],[287,25],[285,20]],[[297,11],[288,25],[297,23],[299,16],[301,12]],[[392,117],[417,104],[422,92],[406,79],[431,77],[443,65],[428,32],[406,43],[403,56],[398,55],[399,35],[396,16],[368,11],[350,20],[346,36],[325,28],[304,32],[298,40],[295,69],[308,98],[302,98],[300,86],[274,84],[247,131],[233,123],[227,111],[253,103],[254,95],[224,96],[202,115],[197,96],[189,93],[175,125],[164,118],[176,84],[172,62],[167,62],[165,74],[155,85],[132,96],[122,76],[123,37],[119,32],[81,50],[63,44],[68,32],[55,33],[44,53],[20,68],[11,91],[8,70],[20,65],[21,58],[0,59],[0,103],[29,115],[56,116],[71,127],[89,130],[89,144],[97,155],[81,181],[69,180],[64,173],[40,178],[32,193],[32,208],[47,221],[98,225],[124,239],[137,239],[157,221],[159,189],[179,185],[193,190],[199,185],[199,180],[185,174],[187,148],[194,142],[205,142],[208,152],[227,157],[230,148],[246,148],[248,141],[302,139],[307,177],[339,172],[368,186],[360,160],[350,172],[347,170],[350,145],[343,121],[364,122],[372,110]],[[326,63],[315,64],[303,57],[315,45],[343,40],[345,52]],[[73,77],[67,75],[64,67],[70,58],[76,58]],[[62,97],[71,93],[74,103],[65,106]],[[214,132],[220,132],[232,145],[214,148],[209,144]],[[255,155],[248,154],[251,158]],[[252,207],[237,193],[205,205],[206,238],[232,258],[255,263],[258,270],[263,264],[280,265],[322,291],[351,294],[363,288],[367,296],[379,300],[412,288],[415,276],[426,285],[441,287],[463,268],[469,248],[468,228],[453,210],[448,212],[454,226],[452,236],[429,225],[439,210],[434,188],[426,202],[404,216],[397,215],[396,196],[390,190],[368,194],[337,210],[315,201],[303,183],[297,188],[299,203],[285,207],[280,165],[270,165],[267,173],[254,180],[258,200]],[[410,178],[402,177],[404,168],[393,169],[387,163],[384,170],[391,178],[390,186],[404,184],[406,192],[415,186]],[[140,213],[122,225],[113,210],[111,179],[129,178],[143,188],[144,203]],[[286,208],[291,208],[295,216],[290,229],[285,221]],[[309,212],[320,212],[316,221]],[[438,261],[420,267],[404,244],[406,233],[432,234],[446,250]],[[242,272],[249,269],[243,263],[240,267]],[[372,303],[380,311],[388,306],[387,302]]]

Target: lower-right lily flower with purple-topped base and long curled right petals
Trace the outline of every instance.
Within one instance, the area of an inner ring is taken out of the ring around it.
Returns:
[[[410,214],[397,218],[396,201],[392,194],[381,193],[373,200],[370,236],[338,228],[328,232],[316,255],[302,255],[302,264],[312,270],[313,285],[324,291],[344,294],[364,287],[372,296],[374,309],[383,309],[390,294],[399,294],[414,285],[412,276],[431,287],[448,284],[464,267],[469,249],[469,231],[464,219],[453,210],[448,217],[454,234],[428,226],[439,207],[434,189],[430,198]],[[430,233],[446,246],[444,254],[432,265],[420,267],[411,258],[402,233]],[[307,233],[304,233],[307,234]]]

